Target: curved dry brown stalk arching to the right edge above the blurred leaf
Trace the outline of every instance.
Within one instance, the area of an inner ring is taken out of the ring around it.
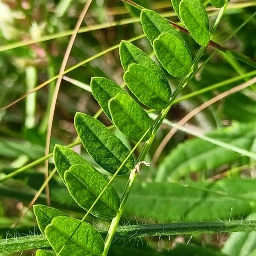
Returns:
[[[215,96],[214,98],[208,100],[207,102],[204,102],[202,105],[198,106],[197,108],[195,108],[194,110],[192,110],[191,112],[189,112],[186,116],[184,116],[178,123],[177,125],[182,126],[184,125],[186,122],[188,122],[193,116],[197,115],[199,112],[201,112],[202,110],[204,110],[205,108],[208,108],[210,105],[214,104],[215,102],[218,102],[221,99],[224,99],[227,96],[230,96],[233,93],[237,93],[240,90],[245,89],[246,87],[249,87],[250,85],[256,83],[256,77],[254,77],[253,79],[250,79],[249,81],[243,83],[243,84],[239,84],[236,87],[231,88],[230,90],[225,91],[224,93],[218,94],[217,96]],[[176,133],[178,129],[177,128],[172,128],[169,133],[166,135],[166,137],[164,137],[164,139],[162,140],[162,142],[160,143],[160,145],[158,146],[154,157],[152,159],[152,164],[155,165],[157,163],[157,160],[160,156],[160,154],[163,151],[163,148],[166,146],[166,144],[169,142],[169,140],[173,137],[173,135]]]

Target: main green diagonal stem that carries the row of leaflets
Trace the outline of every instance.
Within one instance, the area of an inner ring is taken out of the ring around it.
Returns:
[[[127,0],[124,0],[124,1],[127,2]],[[224,7],[221,8],[220,12],[218,13],[218,16],[215,20],[215,23],[213,24],[212,28],[210,29],[211,33],[215,32],[215,29],[217,28],[217,26],[218,26],[218,24],[221,20],[221,17],[223,16],[225,9],[227,8],[227,5],[228,5],[228,3],[226,3],[224,5]],[[200,49],[199,49],[199,51],[198,51],[197,55],[195,56],[195,59],[192,63],[191,72],[185,78],[181,79],[181,81],[180,81],[179,85],[177,86],[173,96],[170,99],[170,102],[169,102],[168,106],[163,111],[161,111],[159,116],[157,116],[157,119],[155,120],[155,122],[153,124],[153,130],[152,130],[152,133],[151,133],[151,137],[149,138],[149,140],[147,140],[145,142],[145,144],[143,146],[143,149],[142,149],[142,151],[141,151],[141,153],[140,153],[140,155],[137,159],[137,163],[144,160],[145,155],[148,153],[148,150],[149,150],[149,148],[151,147],[151,144],[154,141],[154,138],[157,134],[157,131],[158,131],[160,125],[162,124],[162,122],[165,119],[168,111],[172,107],[172,104],[173,104],[175,98],[177,97],[177,95],[180,93],[180,90],[182,90],[182,88],[186,86],[187,81],[189,79],[189,76],[193,73],[193,69],[198,64],[198,61],[200,60],[201,56],[203,55],[205,49],[206,49],[206,46],[201,46],[200,47]],[[122,196],[121,204],[120,204],[120,207],[119,207],[119,212],[117,213],[116,217],[113,218],[113,220],[111,221],[111,225],[110,225],[109,230],[108,230],[108,235],[107,235],[107,238],[105,240],[105,248],[104,248],[104,251],[102,253],[102,256],[107,256],[107,254],[108,254],[108,250],[111,246],[113,236],[114,236],[114,234],[116,232],[116,229],[118,227],[119,220],[120,220],[120,218],[122,216],[122,212],[125,208],[125,203],[127,201],[127,198],[130,195],[130,192],[131,192],[132,186],[133,186],[133,184],[136,180],[136,177],[137,177],[137,172],[134,171],[134,170],[131,170],[131,175],[128,179],[128,183],[126,184],[125,191],[124,191],[123,196]]]

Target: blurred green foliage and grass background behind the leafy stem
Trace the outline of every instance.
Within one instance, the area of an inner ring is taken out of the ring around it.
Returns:
[[[58,74],[70,38],[70,36],[63,35],[65,32],[72,33],[85,2],[85,0],[0,1],[1,107]],[[137,0],[136,2],[160,14],[167,14],[171,20],[178,22],[170,0]],[[210,21],[212,21],[216,9],[207,1],[204,3],[210,15]],[[213,40],[221,44],[254,12],[256,12],[256,1],[231,0]],[[128,40],[142,34],[142,28],[138,22],[119,24],[125,19],[138,21],[138,15],[137,9],[124,6],[119,0],[94,0],[82,24],[82,27],[91,27],[92,31],[77,35],[68,67],[119,44],[121,40]],[[116,25],[111,25],[112,22],[116,22]],[[100,23],[106,24],[105,28],[94,29],[94,25]],[[256,19],[254,18],[236,33],[225,47],[255,60],[255,31]],[[56,36],[52,40],[23,47],[12,47],[15,42],[26,43],[46,35]],[[192,55],[195,56],[198,45],[188,35],[182,35]],[[137,40],[134,44],[147,53],[152,52],[145,38]],[[9,47],[9,49],[5,50],[4,47]],[[201,63],[213,50],[212,47],[207,48]],[[189,82],[182,91],[182,95],[251,71],[253,67],[218,52],[200,70],[195,79]],[[57,99],[52,129],[52,147],[55,143],[67,145],[75,140],[77,135],[73,126],[73,117],[76,111],[93,115],[99,110],[97,102],[90,93],[90,88],[88,89],[90,78],[103,76],[122,84],[122,73],[118,49],[115,49],[66,74],[61,82],[61,90]],[[203,102],[247,81],[250,77],[179,102],[172,108],[168,118],[176,122]],[[175,88],[178,79],[170,76],[168,79],[171,87]],[[44,156],[49,107],[54,87],[55,81],[52,81],[36,93],[27,96],[26,99],[0,112],[0,177]],[[202,134],[212,132],[210,134],[214,138],[256,153],[255,101],[256,86],[253,85],[201,111],[189,121],[187,128],[197,130]],[[99,119],[105,125],[111,125],[104,114],[101,114]],[[227,126],[230,127],[225,129]],[[147,155],[148,162],[151,162],[158,145],[169,129],[168,126],[163,125],[159,131]],[[115,133],[130,148],[133,146],[120,132],[115,131]],[[76,146],[75,150],[90,160],[80,146]],[[247,215],[256,211],[255,165],[248,157],[231,155],[231,153],[217,146],[213,149],[209,148],[209,144],[204,141],[178,131],[163,149],[157,163],[141,171],[134,192],[128,201],[122,223],[246,218]],[[138,151],[135,154],[137,155]],[[231,156],[221,160],[223,155]],[[50,168],[53,169],[53,167],[51,160]],[[167,176],[162,177],[159,174],[163,172],[163,169],[168,173],[168,177],[172,177],[175,171],[180,175],[176,175],[175,180],[166,179]],[[41,163],[0,184],[0,236],[3,239],[39,233],[32,210],[21,219],[20,216],[26,212],[29,201],[44,182],[43,172],[44,165]],[[116,188],[120,195],[126,179],[127,177],[121,177],[116,181]],[[155,182],[156,179],[158,183]],[[209,181],[214,182],[209,183]],[[217,195],[216,192],[222,192],[222,195]],[[69,212],[76,218],[82,216],[81,209],[70,198],[58,175],[50,181],[50,197],[52,206]],[[40,195],[37,203],[45,204],[44,193]],[[251,216],[254,218],[254,215]],[[106,225],[93,217],[89,221],[99,227]],[[15,223],[17,225],[14,228]],[[116,243],[110,255],[256,255],[255,232],[236,233],[228,237],[228,234],[205,234],[148,240],[130,239],[130,241]],[[246,248],[241,250],[240,247],[234,251],[232,248],[237,241],[240,242],[241,247]],[[147,247],[146,252],[145,247]],[[33,253],[34,251],[27,251],[23,255]],[[0,253],[0,255],[7,254]],[[13,255],[20,255],[20,253]]]

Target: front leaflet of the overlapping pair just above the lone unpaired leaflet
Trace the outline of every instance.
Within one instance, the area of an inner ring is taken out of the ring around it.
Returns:
[[[109,101],[108,106],[113,124],[130,140],[139,141],[152,125],[147,112],[127,94],[117,94]],[[149,137],[150,132],[142,141]]]

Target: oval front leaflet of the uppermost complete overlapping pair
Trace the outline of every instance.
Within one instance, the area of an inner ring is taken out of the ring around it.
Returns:
[[[153,46],[157,59],[172,76],[183,77],[191,71],[189,48],[175,35],[161,34]]]

